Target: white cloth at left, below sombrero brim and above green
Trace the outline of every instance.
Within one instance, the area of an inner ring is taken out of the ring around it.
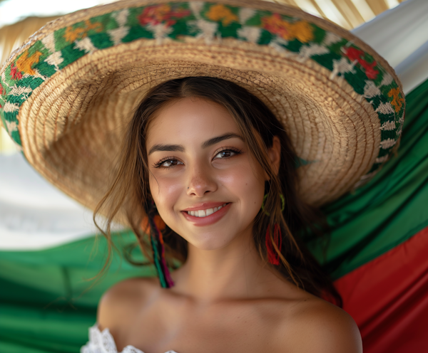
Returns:
[[[1,250],[39,250],[93,233],[91,211],[55,189],[21,153],[0,155]]]

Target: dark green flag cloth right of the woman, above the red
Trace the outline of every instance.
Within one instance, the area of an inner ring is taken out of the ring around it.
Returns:
[[[327,252],[308,242],[333,278],[406,241],[428,226],[428,80],[406,97],[397,156],[367,185],[324,208],[332,227]]]

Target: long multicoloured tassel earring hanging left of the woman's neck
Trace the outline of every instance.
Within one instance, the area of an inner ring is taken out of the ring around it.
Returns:
[[[153,210],[155,210],[153,203]],[[151,246],[153,250],[153,260],[155,263],[156,271],[158,273],[159,281],[161,282],[162,288],[171,288],[174,282],[170,276],[168,265],[165,260],[165,244],[163,243],[162,231],[165,228],[163,219],[158,214],[150,212],[148,214],[148,223],[150,229],[148,233],[151,238]]]

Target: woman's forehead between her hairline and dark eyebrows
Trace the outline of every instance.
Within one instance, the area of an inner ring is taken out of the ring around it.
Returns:
[[[148,125],[146,144],[148,147],[154,143],[204,142],[225,132],[238,134],[239,129],[223,105],[200,98],[183,98],[158,111]]]

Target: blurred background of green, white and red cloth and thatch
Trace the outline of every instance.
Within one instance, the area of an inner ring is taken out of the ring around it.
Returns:
[[[0,63],[58,16],[113,1],[0,0]],[[323,211],[327,254],[307,246],[335,279],[365,352],[428,347],[428,1],[281,0],[352,30],[396,70],[406,94],[397,155],[366,186]],[[1,123],[0,123],[1,124]],[[118,280],[154,275],[133,234],[106,241],[92,213],[26,163],[0,127],[0,352],[78,352],[101,294]],[[94,279],[95,278],[95,279]]]

